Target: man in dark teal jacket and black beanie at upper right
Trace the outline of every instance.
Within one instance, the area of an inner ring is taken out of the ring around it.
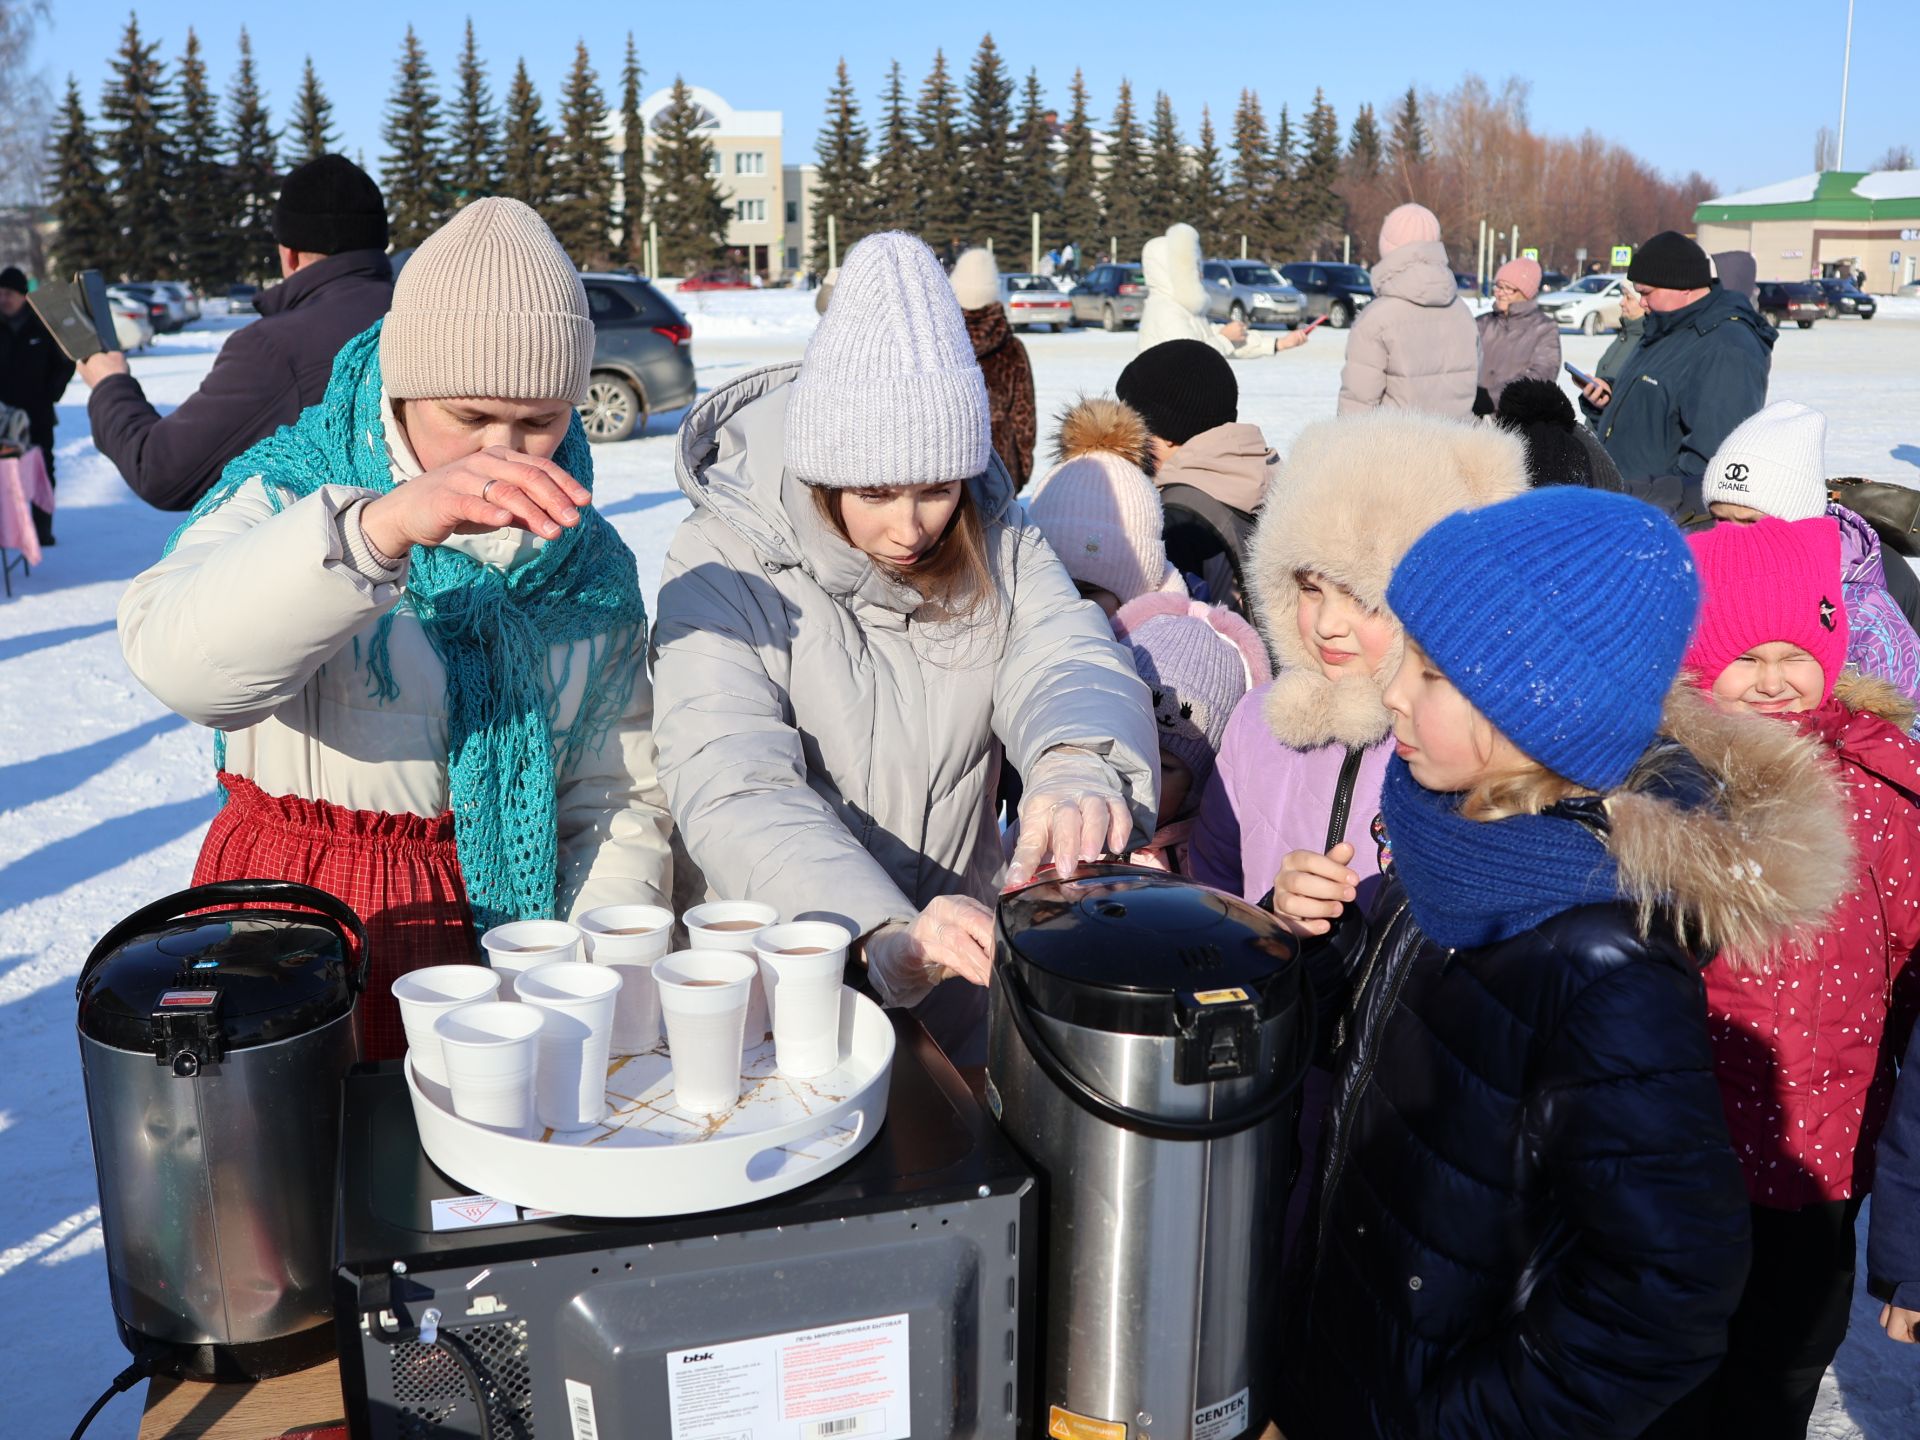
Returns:
[[[1716,288],[1707,252],[1676,230],[1647,240],[1626,276],[1647,323],[1619,378],[1584,390],[1599,440],[1630,488],[1699,480],[1732,428],[1766,405],[1774,328]]]

